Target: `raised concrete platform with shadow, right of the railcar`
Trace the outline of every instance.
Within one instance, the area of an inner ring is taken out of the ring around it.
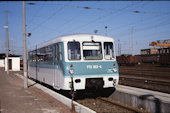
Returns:
[[[170,94],[118,85],[110,98],[151,113],[170,113]]]

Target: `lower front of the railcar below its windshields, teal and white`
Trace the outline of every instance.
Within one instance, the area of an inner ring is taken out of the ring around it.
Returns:
[[[67,77],[73,77],[74,90],[97,90],[118,85],[116,61],[71,62],[67,65]],[[71,79],[70,79],[71,80]],[[72,84],[72,82],[69,82]]]

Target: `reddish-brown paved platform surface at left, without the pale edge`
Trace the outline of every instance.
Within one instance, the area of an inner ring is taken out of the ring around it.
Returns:
[[[0,113],[71,113],[63,103],[31,86],[24,89],[23,80],[14,72],[0,68]]]

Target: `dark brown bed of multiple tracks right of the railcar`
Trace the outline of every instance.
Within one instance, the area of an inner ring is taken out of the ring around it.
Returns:
[[[157,64],[119,66],[119,84],[170,93],[170,67]]]

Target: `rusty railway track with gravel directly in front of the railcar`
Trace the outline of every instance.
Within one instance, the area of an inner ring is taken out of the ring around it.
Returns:
[[[97,113],[149,113],[143,109],[134,108],[109,98],[98,97],[96,99],[77,100],[77,102]]]

